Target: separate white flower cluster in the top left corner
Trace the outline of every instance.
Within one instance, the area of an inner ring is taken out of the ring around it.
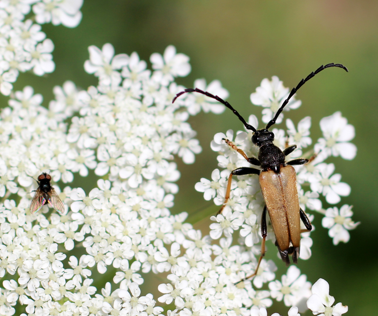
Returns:
[[[82,0],[0,1],[0,92],[3,95],[11,94],[19,72],[33,70],[42,76],[54,71],[51,55],[54,44],[46,39],[40,24],[51,22],[76,27],[81,21],[82,3]]]

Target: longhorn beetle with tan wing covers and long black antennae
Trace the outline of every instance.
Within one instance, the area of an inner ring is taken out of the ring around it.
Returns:
[[[186,92],[198,92],[212,99],[215,99],[220,103],[223,103],[237,117],[239,117],[239,120],[242,121],[247,130],[253,131],[251,140],[253,144],[259,146],[259,154],[257,159],[255,157],[248,157],[245,152],[243,152],[243,150],[237,148],[228,139],[224,139],[226,144],[239,152],[250,164],[260,166],[261,170],[251,167],[239,167],[232,170],[231,174],[228,177],[225,202],[218,211],[218,214],[222,213],[222,210],[230,197],[231,180],[233,175],[259,175],[260,188],[265,202],[261,216],[262,242],[260,259],[257,263],[255,272],[241,281],[244,281],[257,274],[261,260],[265,255],[267,210],[273,226],[274,235],[276,236],[275,244],[278,247],[282,261],[285,262],[287,266],[290,264],[288,255],[293,255],[294,263],[297,263],[299,257],[299,247],[301,243],[302,233],[300,219],[306,227],[306,230],[304,230],[304,232],[310,231],[312,229],[311,222],[308,219],[306,213],[299,207],[296,172],[292,167],[293,165],[308,163],[309,160],[305,158],[296,158],[286,162],[285,156],[293,152],[293,150],[296,149],[297,145],[290,145],[282,151],[281,149],[279,149],[279,147],[273,144],[274,134],[268,129],[276,123],[276,120],[282,112],[283,108],[285,107],[285,105],[287,105],[291,97],[293,97],[298,89],[301,88],[301,86],[306,81],[314,77],[314,75],[330,67],[339,67],[348,72],[347,67],[343,66],[342,64],[331,63],[325,66],[320,66],[315,70],[315,72],[311,72],[311,74],[309,74],[305,79],[302,79],[295,88],[291,89],[289,96],[282,103],[273,119],[271,119],[268,124],[266,124],[265,128],[262,128],[260,130],[256,130],[256,128],[248,124],[245,119],[239,114],[239,112],[236,111],[227,101],[221,99],[217,95],[212,95],[211,93],[202,91],[198,88],[185,89],[184,91],[179,92],[172,100],[172,103],[174,103],[181,94],[184,94]]]

